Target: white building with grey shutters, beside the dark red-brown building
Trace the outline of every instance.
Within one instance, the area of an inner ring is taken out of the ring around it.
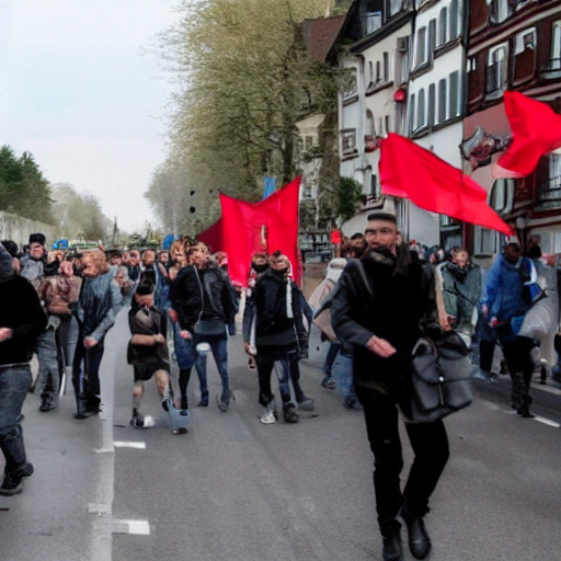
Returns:
[[[411,138],[458,169],[462,168],[459,145],[466,95],[463,21],[462,0],[421,0],[408,104]],[[415,211],[413,219],[411,208],[409,216],[410,238],[446,249],[461,245],[460,226],[448,217]]]

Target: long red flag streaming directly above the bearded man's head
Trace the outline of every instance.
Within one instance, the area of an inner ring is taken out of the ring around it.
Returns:
[[[381,141],[380,183],[386,195],[409,198],[425,210],[514,233],[488,205],[482,186],[433,152],[392,133]]]

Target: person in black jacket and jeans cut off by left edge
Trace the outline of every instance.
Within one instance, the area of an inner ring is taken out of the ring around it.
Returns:
[[[37,293],[16,276],[12,256],[0,244],[0,449],[5,457],[0,494],[22,491],[22,480],[33,473],[20,424],[22,405],[31,386],[30,359],[35,340],[47,325]]]

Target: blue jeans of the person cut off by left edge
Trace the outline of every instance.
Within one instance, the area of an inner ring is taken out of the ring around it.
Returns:
[[[31,381],[27,364],[0,366],[0,449],[5,457],[4,473],[15,471],[27,461],[20,419]]]

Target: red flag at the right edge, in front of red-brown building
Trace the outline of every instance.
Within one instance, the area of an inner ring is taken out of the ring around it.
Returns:
[[[561,115],[547,103],[518,92],[504,92],[513,144],[493,167],[493,178],[526,178],[538,160],[561,147]]]

